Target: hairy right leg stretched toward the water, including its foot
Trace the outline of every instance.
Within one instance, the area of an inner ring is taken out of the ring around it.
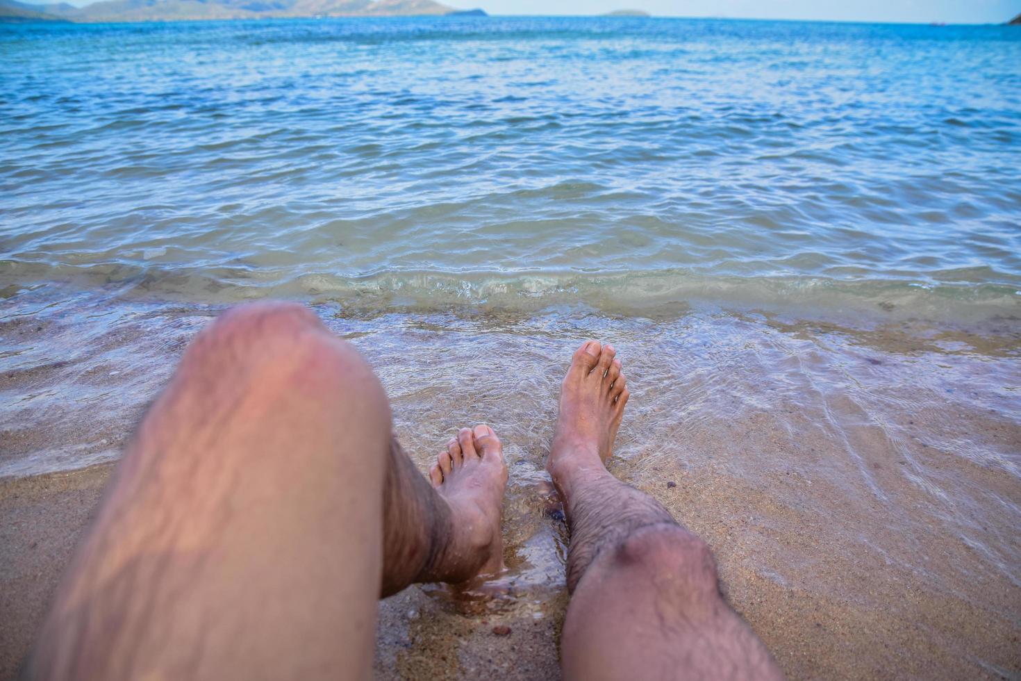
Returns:
[[[780,678],[720,595],[706,543],[603,466],[628,400],[614,354],[575,352],[546,464],[571,528],[565,678]]]

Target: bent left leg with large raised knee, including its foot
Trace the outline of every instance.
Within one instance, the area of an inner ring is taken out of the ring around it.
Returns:
[[[125,452],[27,676],[368,677],[379,594],[500,566],[499,441],[457,450],[430,484],[307,310],[226,313]]]

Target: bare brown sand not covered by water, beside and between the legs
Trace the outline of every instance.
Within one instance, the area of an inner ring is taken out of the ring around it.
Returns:
[[[111,470],[98,466],[0,483],[0,678],[16,678]],[[770,578],[765,556],[756,553],[762,540],[744,518],[725,510],[723,520],[714,518],[735,495],[751,495],[749,510],[768,504],[762,490],[757,499],[753,490],[726,476],[696,481],[679,469],[659,473],[680,482],[645,491],[710,541],[728,600],[766,641],[788,678],[1013,678],[1021,671],[1021,627],[996,617],[988,605],[935,593],[888,567],[832,555],[813,574],[804,573],[805,581],[780,583]],[[512,541],[515,529],[508,532]],[[818,529],[806,526],[801,550],[825,541],[825,535],[813,536]],[[508,546],[512,565],[523,548],[521,543]],[[980,591],[985,603],[1017,606],[1016,588],[998,593],[976,584],[965,596],[974,599]],[[376,674],[383,679],[558,678],[557,634],[567,602],[563,579],[512,591],[507,602],[450,600],[435,589],[414,586],[380,603]]]

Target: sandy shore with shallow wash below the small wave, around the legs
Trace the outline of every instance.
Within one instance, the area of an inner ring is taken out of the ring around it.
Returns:
[[[417,586],[383,601],[379,677],[558,676],[567,535],[542,463],[586,336],[619,347],[632,388],[612,472],[707,539],[728,600],[789,678],[1021,675],[1016,321],[317,311],[376,368],[420,468],[482,420],[510,468],[500,595]],[[110,465],[40,469],[115,457],[214,312],[126,304],[106,327],[81,309],[5,323],[23,349],[0,377],[0,465],[30,475],[0,480],[0,679],[28,651]]]

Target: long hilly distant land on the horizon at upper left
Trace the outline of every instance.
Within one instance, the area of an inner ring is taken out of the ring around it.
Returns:
[[[0,0],[0,22],[179,21],[327,16],[486,16],[435,0],[101,0],[85,7],[66,2]]]

